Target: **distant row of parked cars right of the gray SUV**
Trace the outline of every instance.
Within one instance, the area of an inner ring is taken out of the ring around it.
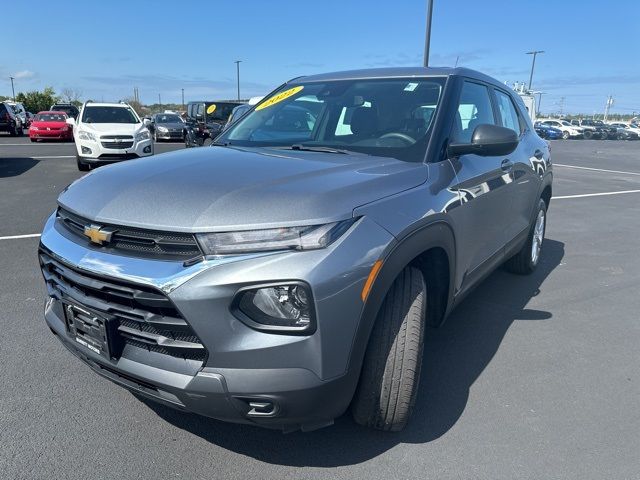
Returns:
[[[589,119],[548,119],[535,123],[536,133],[545,139],[584,138],[597,140],[638,140],[640,127],[637,124]]]

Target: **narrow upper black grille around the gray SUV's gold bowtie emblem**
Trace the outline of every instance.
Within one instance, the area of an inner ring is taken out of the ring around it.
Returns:
[[[136,257],[151,257],[163,260],[189,260],[202,256],[193,234],[180,232],[161,232],[134,227],[125,227],[110,224],[100,224],[113,231],[111,241],[107,246],[92,244],[84,235],[86,226],[96,222],[82,218],[79,215],[59,208],[56,214],[57,221],[67,231],[82,240],[83,244],[101,250],[110,250],[114,253],[135,254]]]

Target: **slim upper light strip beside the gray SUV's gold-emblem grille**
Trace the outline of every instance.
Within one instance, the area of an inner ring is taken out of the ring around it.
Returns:
[[[196,237],[205,255],[316,250],[337,240],[356,219],[308,227],[270,228],[243,232],[200,233]]]

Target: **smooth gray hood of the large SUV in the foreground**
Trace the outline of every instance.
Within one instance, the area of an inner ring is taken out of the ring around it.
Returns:
[[[426,179],[392,158],[202,147],[102,167],[58,201],[101,223],[213,232],[343,220]]]

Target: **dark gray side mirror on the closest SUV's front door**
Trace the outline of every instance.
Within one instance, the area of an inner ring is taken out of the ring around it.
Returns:
[[[510,128],[483,123],[471,136],[471,143],[451,143],[447,148],[450,157],[475,154],[481,157],[509,155],[518,147],[518,134]]]

